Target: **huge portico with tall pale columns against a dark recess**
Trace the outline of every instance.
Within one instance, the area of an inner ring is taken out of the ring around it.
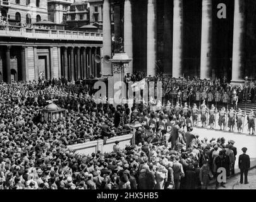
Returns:
[[[123,37],[133,58],[131,73],[255,78],[256,1],[104,0],[104,55],[113,53],[108,17],[113,3],[115,37]],[[226,12],[218,16],[221,9]],[[111,65],[104,64],[103,73],[111,74]]]

